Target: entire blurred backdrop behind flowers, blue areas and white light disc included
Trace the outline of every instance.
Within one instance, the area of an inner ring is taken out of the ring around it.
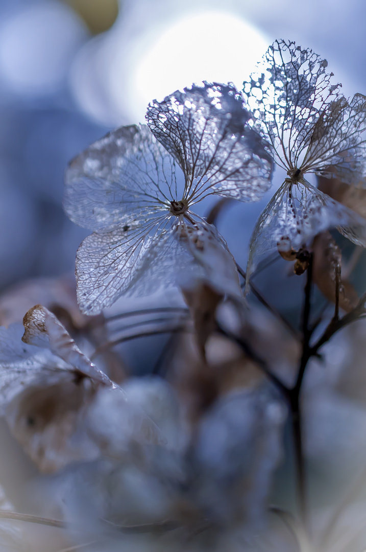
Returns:
[[[91,142],[193,81],[240,87],[276,38],[364,92],[365,16],[361,0],[1,0],[0,289],[73,270],[86,232],[63,213],[63,172]],[[243,264],[266,200],[220,219]]]

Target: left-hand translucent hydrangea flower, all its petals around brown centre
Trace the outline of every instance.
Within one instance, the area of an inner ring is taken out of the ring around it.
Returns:
[[[241,294],[225,241],[191,208],[208,195],[257,200],[270,187],[272,161],[248,120],[233,86],[204,83],[153,102],[149,128],[117,129],[71,163],[64,208],[94,231],[76,259],[83,312],[177,278]]]

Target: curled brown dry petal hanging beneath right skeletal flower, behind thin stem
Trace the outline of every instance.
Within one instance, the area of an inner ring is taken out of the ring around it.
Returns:
[[[342,253],[329,232],[322,232],[313,242],[313,278],[321,293],[330,302],[336,301],[339,286],[339,306],[346,312],[358,303],[357,291],[350,282],[342,281]]]

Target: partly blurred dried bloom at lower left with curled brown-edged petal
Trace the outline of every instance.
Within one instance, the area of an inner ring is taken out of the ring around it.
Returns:
[[[17,328],[16,335],[14,328],[2,328],[1,398],[10,430],[41,471],[98,458],[107,450],[123,455],[131,442],[164,441],[50,311],[36,305],[26,313],[24,328],[23,343]]]

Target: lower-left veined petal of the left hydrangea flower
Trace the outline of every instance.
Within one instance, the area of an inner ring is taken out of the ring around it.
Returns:
[[[146,224],[131,232],[117,228],[87,236],[76,256],[80,309],[85,314],[98,314],[121,295],[143,294],[145,286],[145,293],[154,293],[163,285],[159,274],[151,278],[151,269],[154,264],[164,270],[173,263],[169,248],[165,248],[172,225],[172,218],[163,216],[155,225]]]

